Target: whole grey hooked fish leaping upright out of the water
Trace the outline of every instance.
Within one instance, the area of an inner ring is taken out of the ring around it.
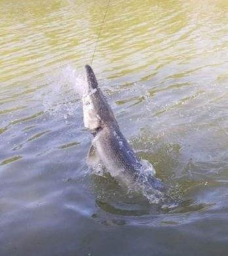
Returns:
[[[137,182],[163,191],[164,184],[153,175],[153,169],[147,170],[145,175],[145,166],[121,133],[117,119],[98,86],[92,68],[86,65],[85,70],[88,83],[82,98],[83,121],[85,128],[93,135],[88,150],[88,165],[102,163],[118,181]]]

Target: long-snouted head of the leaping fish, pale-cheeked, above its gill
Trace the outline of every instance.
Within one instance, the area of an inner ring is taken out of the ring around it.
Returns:
[[[98,81],[92,68],[86,65],[85,69],[88,83],[85,85],[83,95],[83,121],[86,129],[94,134],[103,129],[105,125],[118,126],[105,96],[98,87]]]

